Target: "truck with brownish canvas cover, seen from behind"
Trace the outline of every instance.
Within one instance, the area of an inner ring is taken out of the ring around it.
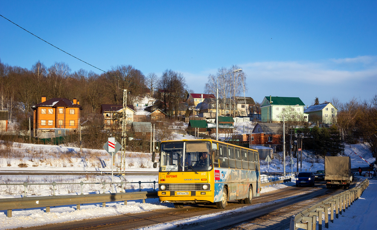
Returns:
[[[326,187],[343,186],[349,188],[352,181],[351,158],[349,156],[325,156]]]

